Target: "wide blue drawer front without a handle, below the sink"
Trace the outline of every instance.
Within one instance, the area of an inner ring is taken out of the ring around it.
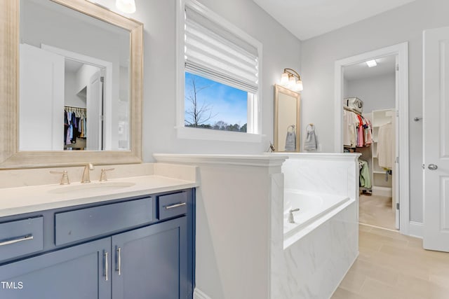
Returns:
[[[153,220],[152,197],[55,214],[55,244],[130,228]]]

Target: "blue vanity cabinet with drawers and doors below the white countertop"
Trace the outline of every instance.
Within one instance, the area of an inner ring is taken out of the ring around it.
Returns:
[[[0,218],[0,299],[192,299],[194,192]]]

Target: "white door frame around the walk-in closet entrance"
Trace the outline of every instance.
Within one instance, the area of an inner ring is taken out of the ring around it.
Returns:
[[[410,227],[410,197],[409,197],[409,143],[408,143],[408,42],[398,43],[379,50],[362,53],[352,57],[347,57],[335,62],[335,153],[343,151],[343,68],[367,60],[375,60],[380,57],[397,55],[398,63],[398,97],[396,99],[396,109],[398,109],[398,125],[399,125],[399,200],[401,206],[400,214],[400,231],[404,235],[409,235]]]

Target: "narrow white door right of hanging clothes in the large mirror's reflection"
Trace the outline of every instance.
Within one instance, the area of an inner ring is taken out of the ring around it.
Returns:
[[[103,114],[103,83],[101,72],[97,71],[89,79],[86,98],[86,147],[88,151],[102,150],[102,114]]]

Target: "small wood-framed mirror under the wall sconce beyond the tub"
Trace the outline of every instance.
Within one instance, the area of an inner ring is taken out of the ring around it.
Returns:
[[[300,94],[274,85],[275,151],[299,152],[300,132]]]

